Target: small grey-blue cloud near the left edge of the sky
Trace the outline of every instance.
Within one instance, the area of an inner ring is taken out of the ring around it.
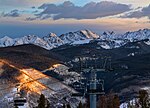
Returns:
[[[19,11],[17,9],[15,9],[15,10],[12,10],[8,13],[3,12],[1,14],[1,16],[3,16],[3,17],[19,17],[20,14],[19,14]]]

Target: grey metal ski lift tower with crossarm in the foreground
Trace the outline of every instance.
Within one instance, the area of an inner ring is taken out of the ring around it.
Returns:
[[[98,58],[96,58],[95,56],[90,58],[90,61],[93,61],[94,65],[87,65],[86,63],[86,67],[82,68],[82,59],[79,58],[80,61],[80,69],[82,69],[82,71],[84,72],[89,72],[90,73],[90,79],[89,79],[89,91],[87,92],[87,94],[90,96],[90,108],[97,108],[96,104],[97,104],[97,95],[103,95],[104,94],[104,82],[101,83],[101,90],[97,88],[97,82],[99,81],[97,79],[97,72],[104,72],[105,71],[105,67],[106,67],[106,61],[107,58],[105,60],[105,63],[103,64],[103,66],[97,66],[96,64],[96,60]],[[88,59],[86,60],[88,62]]]

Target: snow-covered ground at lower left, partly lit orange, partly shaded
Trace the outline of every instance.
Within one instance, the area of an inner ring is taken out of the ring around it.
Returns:
[[[14,67],[13,65],[11,66]],[[53,68],[56,68],[57,66],[58,64],[54,65]],[[60,67],[61,68],[56,69],[57,72],[59,73],[61,72],[62,75],[65,75],[65,73],[67,73],[65,69],[68,69],[68,68],[64,65]],[[41,93],[44,94],[45,97],[48,98],[48,100],[50,101],[50,104],[54,106],[58,103],[67,104],[69,102],[71,103],[71,106],[73,106],[73,108],[76,108],[76,105],[80,102],[80,99],[71,97],[71,94],[76,93],[76,91],[70,88],[69,86],[67,86],[65,83],[62,83],[53,77],[44,75],[42,72],[32,69],[32,68],[20,69],[20,72],[22,74],[17,77],[17,79],[20,81],[19,90],[20,89],[24,90],[24,88],[26,88],[27,94],[25,93],[25,95],[28,95],[29,91],[30,91],[30,94],[28,96],[24,96],[27,98],[27,104],[24,107],[19,107],[19,108],[33,108],[33,106],[35,107],[37,105],[39,94]],[[76,73],[71,73],[67,75],[76,75]],[[8,86],[6,85],[6,87]],[[4,91],[2,93],[3,97],[0,97],[0,102],[2,102],[3,104],[0,104],[0,108],[1,107],[5,108],[3,107],[5,105],[8,105],[8,108],[13,107],[13,100],[14,100],[16,91],[17,91],[16,87],[13,86],[12,89],[10,88],[10,90]],[[33,94],[36,94],[36,95],[33,95]]]

